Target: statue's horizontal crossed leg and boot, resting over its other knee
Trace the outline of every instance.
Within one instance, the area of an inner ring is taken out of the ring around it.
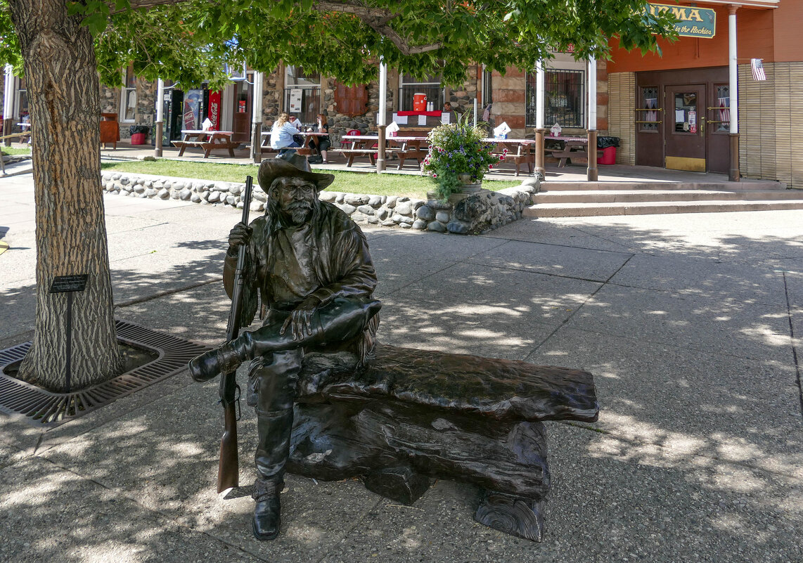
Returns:
[[[296,340],[293,340],[289,327],[283,335],[279,334],[287,318],[279,317],[279,320],[254,332],[243,332],[218,349],[194,357],[190,361],[190,375],[195,381],[208,381],[218,373],[237,369],[244,361],[271,352],[353,340],[365,330],[368,321],[380,308],[381,303],[377,300],[336,299],[312,315],[312,334],[304,331]]]

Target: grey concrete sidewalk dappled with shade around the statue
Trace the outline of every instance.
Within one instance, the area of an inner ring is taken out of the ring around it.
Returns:
[[[6,348],[34,323],[31,177],[0,197]],[[105,202],[116,315],[219,344],[238,212]],[[543,543],[476,524],[467,485],[405,507],[293,475],[282,535],[256,541],[253,411],[244,486],[218,496],[217,381],[180,373],[45,433],[0,415],[0,561],[803,561],[803,211],[365,231],[382,341],[594,374],[599,422],[547,423]]]

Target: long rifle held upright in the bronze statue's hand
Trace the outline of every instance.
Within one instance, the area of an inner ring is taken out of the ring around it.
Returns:
[[[243,192],[243,224],[248,224],[248,210],[251,207],[251,190],[254,178],[246,177]],[[231,292],[231,310],[226,326],[226,342],[233,341],[240,332],[240,312],[243,301],[243,269],[246,262],[246,245],[238,248],[237,269],[234,271],[234,288]],[[237,421],[239,415],[240,386],[237,385],[237,370],[222,373],[220,376],[220,404],[223,406],[223,435],[220,439],[220,462],[218,463],[218,492],[239,484],[239,463],[237,453]],[[236,408],[235,408],[236,407]]]

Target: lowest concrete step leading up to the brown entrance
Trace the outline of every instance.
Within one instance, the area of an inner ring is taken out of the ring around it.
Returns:
[[[651,215],[670,213],[726,213],[803,209],[803,198],[752,202],[621,202],[542,203],[524,208],[524,217],[592,217],[598,215]]]

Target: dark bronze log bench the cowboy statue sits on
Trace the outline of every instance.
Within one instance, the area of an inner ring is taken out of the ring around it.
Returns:
[[[597,420],[591,373],[377,345],[309,353],[296,387],[287,468],[412,504],[430,478],[479,487],[475,520],[540,541],[550,489],[545,420]]]

